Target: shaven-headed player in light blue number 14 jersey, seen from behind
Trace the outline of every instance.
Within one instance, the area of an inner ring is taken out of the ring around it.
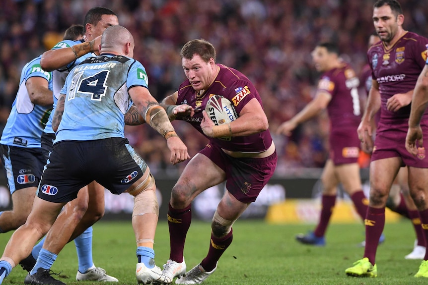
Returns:
[[[162,272],[153,260],[159,209],[154,178],[124,138],[125,114],[131,102],[165,137],[172,164],[190,157],[166,112],[150,95],[147,78],[141,76],[144,67],[132,58],[134,47],[127,29],[111,26],[103,33],[100,56],[87,58],[67,77],[52,122],[57,134],[54,148],[27,222],[13,233],[0,258],[0,282],[49,230],[60,209],[92,180],[114,194],[135,196],[132,224],[138,246],[137,281],[162,281]],[[49,270],[38,269],[38,274],[43,272],[49,276]],[[50,283],[45,280],[43,284],[62,284],[49,278]],[[40,283],[34,280],[31,284]]]

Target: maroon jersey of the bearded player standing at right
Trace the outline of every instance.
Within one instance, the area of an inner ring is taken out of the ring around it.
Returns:
[[[387,50],[383,42],[373,45],[367,52],[372,78],[379,83],[381,98],[380,124],[407,122],[410,105],[397,112],[386,109],[386,101],[395,94],[407,93],[415,88],[419,74],[427,59],[428,39],[407,32],[392,48]],[[423,119],[427,119],[427,112]]]

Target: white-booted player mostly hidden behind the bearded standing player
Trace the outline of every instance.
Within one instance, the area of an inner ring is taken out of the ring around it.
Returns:
[[[368,48],[380,41],[379,36],[376,32],[370,35],[368,41]],[[368,96],[372,85],[372,75],[370,65],[367,63],[362,68],[361,72],[361,82],[364,82],[364,89]],[[373,117],[373,129],[376,129],[377,123],[380,119],[380,112],[377,112]],[[374,134],[373,134],[374,137]],[[367,153],[371,154],[372,149],[365,149],[365,145],[362,146],[362,149]],[[386,202],[386,207],[392,211],[410,219],[412,225],[415,229],[416,240],[415,245],[411,253],[407,254],[405,259],[424,259],[425,256],[425,239],[423,235],[423,230],[421,227],[421,219],[419,218],[419,212],[416,208],[415,203],[412,200],[409,192],[409,183],[407,179],[407,168],[402,167],[398,171],[398,174],[392,184],[391,190],[389,192],[388,200]],[[365,240],[361,243],[361,246],[365,246]]]

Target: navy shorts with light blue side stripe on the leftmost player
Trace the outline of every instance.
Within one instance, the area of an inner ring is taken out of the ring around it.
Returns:
[[[3,170],[6,174],[10,195],[16,190],[37,187],[46,164],[40,148],[24,148],[0,145]]]

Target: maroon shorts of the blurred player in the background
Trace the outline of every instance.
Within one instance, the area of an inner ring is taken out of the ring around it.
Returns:
[[[332,130],[329,136],[330,159],[334,165],[357,163],[360,141],[356,128]]]

